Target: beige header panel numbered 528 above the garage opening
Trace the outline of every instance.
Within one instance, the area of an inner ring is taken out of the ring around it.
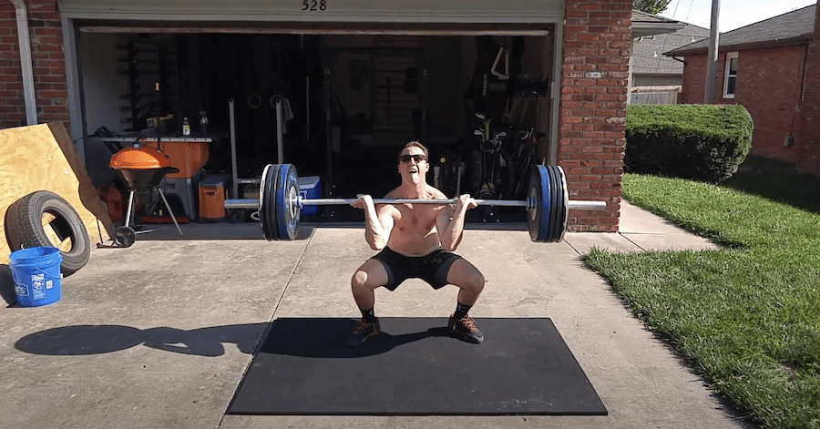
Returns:
[[[545,23],[561,0],[62,0],[66,18],[181,22]]]

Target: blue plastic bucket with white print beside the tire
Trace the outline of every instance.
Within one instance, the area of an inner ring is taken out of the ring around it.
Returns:
[[[60,263],[63,256],[56,247],[33,247],[15,250],[8,257],[8,267],[15,281],[17,304],[39,307],[60,301]]]

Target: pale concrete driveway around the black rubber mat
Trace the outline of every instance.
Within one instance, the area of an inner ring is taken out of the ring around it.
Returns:
[[[457,250],[487,279],[471,314],[550,318],[607,416],[226,415],[273,319],[359,316],[349,280],[374,252],[354,226],[302,225],[299,240],[269,242],[256,224],[190,224],[183,238],[171,225],[128,249],[93,250],[54,304],[0,309],[0,427],[747,427],[579,259],[592,246],[714,246],[626,203],[620,229],[557,244],[467,230]],[[455,296],[407,281],[377,291],[376,312],[446,318]]]

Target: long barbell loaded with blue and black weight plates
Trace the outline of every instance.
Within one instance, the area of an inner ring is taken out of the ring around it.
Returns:
[[[304,206],[353,204],[356,199],[305,199],[299,194],[299,176],[292,164],[268,164],[262,171],[259,199],[226,199],[225,209],[258,209],[267,240],[295,240]],[[458,199],[374,199],[375,204],[456,204]],[[529,178],[525,200],[476,199],[479,206],[527,209],[529,238],[553,243],[564,239],[569,209],[603,210],[605,201],[569,200],[567,180],[559,166],[538,166]]]

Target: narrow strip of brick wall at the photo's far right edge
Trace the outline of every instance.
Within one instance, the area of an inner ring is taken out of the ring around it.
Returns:
[[[797,169],[820,175],[820,7],[816,8],[815,34],[807,53],[794,151]]]

